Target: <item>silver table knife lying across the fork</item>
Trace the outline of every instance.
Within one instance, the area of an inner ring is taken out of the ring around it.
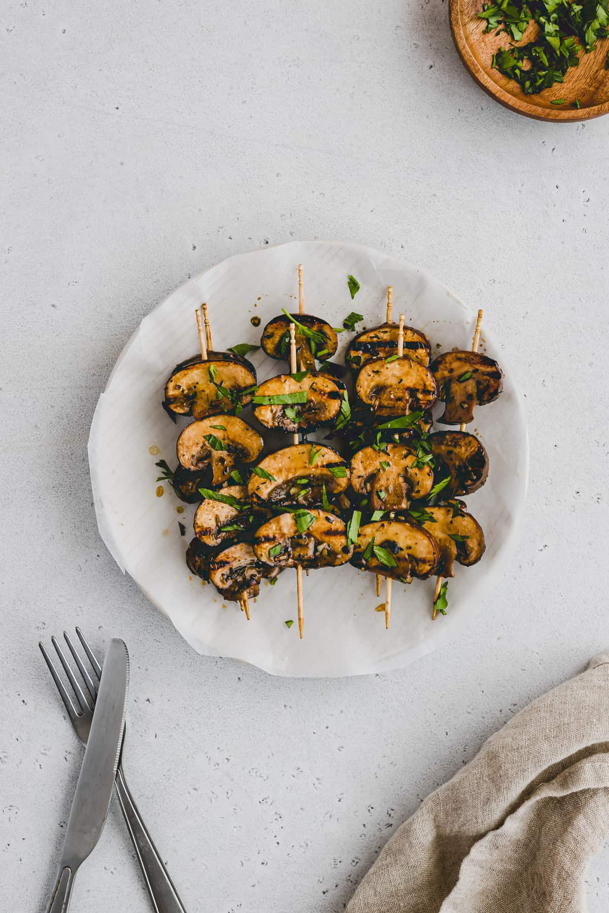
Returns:
[[[104,656],[89,740],[47,913],[66,913],[77,870],[100,839],[121,754],[128,685],[127,647],[114,638]]]

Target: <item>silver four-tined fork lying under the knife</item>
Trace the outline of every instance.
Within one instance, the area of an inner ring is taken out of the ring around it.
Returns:
[[[51,643],[56,649],[59,661],[63,666],[69,684],[78,701],[79,708],[75,706],[74,701],[70,698],[68,689],[59,676],[58,670],[54,666],[51,657],[48,656],[45,645],[40,643],[38,646],[42,651],[42,655],[45,657],[53,681],[58,687],[59,695],[68,710],[68,717],[72,722],[72,726],[74,727],[79,740],[83,745],[86,745],[87,740],[89,739],[91,719],[93,719],[93,710],[98,694],[101,666],[79,627],[77,627],[76,633],[79,636],[79,641],[89,659],[90,666],[93,670],[93,677],[89,675],[86,666],[79,656],[78,650],[70,640],[66,631],[64,631],[64,637],[68,644],[69,652],[72,654],[74,662],[79,670],[82,681],[84,681],[85,687],[89,692],[89,697],[85,695],[85,692],[80,686],[79,679],[69,665],[68,659],[58,644],[57,638],[51,637]],[[119,804],[121,805],[121,812],[123,813],[127,829],[135,848],[135,853],[138,857],[140,866],[142,866],[142,874],[152,900],[152,907],[156,913],[186,913],[184,904],[173,885],[173,881],[170,878],[167,869],[163,866],[161,855],[159,855],[159,851],[154,845],[146,825],[143,823],[142,815],[133,801],[133,797],[127,786],[125,772],[122,769],[122,749],[124,748],[125,743],[125,731],[126,727],[123,729],[122,733],[121,757],[119,759],[119,766],[116,771],[116,782],[114,785],[116,787]]]

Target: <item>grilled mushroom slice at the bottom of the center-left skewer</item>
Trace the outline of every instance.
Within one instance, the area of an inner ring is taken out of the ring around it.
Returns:
[[[346,564],[353,546],[347,542],[341,519],[325,510],[303,509],[280,514],[258,527],[254,551],[260,561],[282,568],[297,564],[325,568]]]

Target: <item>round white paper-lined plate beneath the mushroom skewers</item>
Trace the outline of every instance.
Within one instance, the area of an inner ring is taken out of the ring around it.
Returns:
[[[410,586],[394,582],[389,631],[374,612],[374,575],[350,565],[311,572],[304,579],[304,639],[296,619],[296,573],[275,586],[264,581],[248,623],[237,603],[223,603],[184,563],[194,506],[182,505],[165,485],[155,495],[156,460],[173,467],[181,427],[163,411],[163,386],[173,366],[197,351],[194,309],[207,301],[215,349],[258,343],[265,323],[298,298],[297,265],[304,265],[305,307],[334,326],[358,310],[371,327],[384,320],[386,287],[394,287],[394,319],[429,336],[434,352],[469,349],[475,316],[425,270],[368,247],[325,241],[265,247],[208,269],[176,289],[142,320],[116,363],[93,418],[89,464],[100,533],[123,571],[169,615],[199,653],[235,656],[275,675],[347,676],[405,666],[455,634],[487,602],[509,558],[523,509],[528,475],[528,434],[520,394],[503,346],[493,340],[488,309],[480,352],[496,358],[506,378],[494,404],[478,407],[471,426],[487,447],[487,484],[467,498],[485,530],[487,551],[473,568],[456,565],[448,584],[448,614],[431,620],[435,579]],[[352,301],[347,276],[361,290]],[[250,318],[260,318],[255,329]],[[352,334],[341,333],[342,352]],[[436,348],[439,344],[440,348]],[[249,356],[258,381],[279,373],[262,351]],[[247,412],[244,413],[247,418]],[[442,427],[442,425],[440,425]],[[321,438],[323,433],[316,437]],[[286,442],[288,443],[288,441]],[[160,453],[152,455],[150,448]],[[184,507],[184,513],[176,509]],[[178,520],[184,522],[182,537]]]

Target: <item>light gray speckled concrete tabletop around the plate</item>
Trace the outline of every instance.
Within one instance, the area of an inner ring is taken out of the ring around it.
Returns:
[[[340,911],[394,829],[609,643],[609,119],[489,100],[447,4],[7,0],[1,19],[0,907],[44,907],[81,750],[37,652],[131,651],[126,768],[190,911]],[[196,656],[98,536],[89,423],[153,305],[294,237],[430,268],[514,352],[528,519],[486,614],[402,672],[295,681]],[[588,877],[609,902],[609,852]],[[149,909],[116,807],[79,913]]]

